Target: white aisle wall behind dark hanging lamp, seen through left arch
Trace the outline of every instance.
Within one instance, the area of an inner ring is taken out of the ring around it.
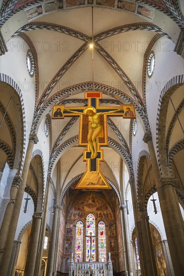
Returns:
[[[28,196],[28,198],[31,198],[31,199],[28,201],[27,212],[24,213],[24,206],[25,206],[25,202],[26,202],[25,198],[27,198],[27,195],[28,194],[26,192],[24,192],[22,205],[21,205],[21,210],[20,210],[20,215],[19,215],[19,221],[18,221],[16,235],[15,235],[15,240],[18,239],[20,231],[25,226],[25,224],[33,219],[32,216],[34,214],[34,203],[33,203],[33,200],[31,198],[31,196]]]

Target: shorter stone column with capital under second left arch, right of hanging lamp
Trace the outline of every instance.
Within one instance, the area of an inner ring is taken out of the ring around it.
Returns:
[[[42,212],[35,212],[33,215],[33,222],[31,227],[31,234],[29,239],[28,255],[26,259],[26,266],[24,275],[33,276],[35,275],[35,263],[38,252],[39,237],[40,237],[40,227],[43,218]]]

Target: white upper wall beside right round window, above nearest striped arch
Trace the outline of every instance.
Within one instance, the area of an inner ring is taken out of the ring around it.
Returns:
[[[174,47],[175,44],[171,40],[166,37],[160,38],[152,48],[155,54],[153,75],[150,79],[146,75],[146,106],[155,152],[156,116],[160,92],[170,79],[183,74],[183,58],[173,51]]]

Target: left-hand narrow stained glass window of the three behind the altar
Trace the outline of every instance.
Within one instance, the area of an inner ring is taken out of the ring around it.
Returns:
[[[83,223],[76,224],[75,261],[83,261]]]

